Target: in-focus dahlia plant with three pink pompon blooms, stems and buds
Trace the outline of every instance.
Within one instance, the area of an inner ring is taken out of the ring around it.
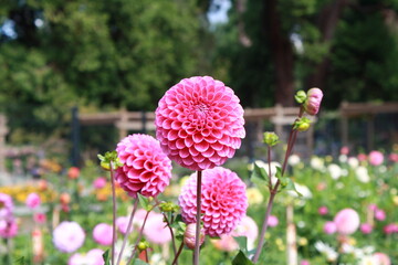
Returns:
[[[297,131],[310,127],[310,119],[304,113],[315,115],[318,112],[322,92],[312,88],[307,94],[298,92],[296,99],[302,104],[297,119],[292,126],[287,150],[282,168],[274,170],[272,180],[271,148],[279,142],[274,132],[264,134],[264,142],[269,150],[268,172],[254,165],[254,176],[266,180],[270,200],[260,232],[255,253],[240,252],[235,263],[256,263],[264,243],[264,234],[269,225],[277,223],[277,218],[271,215],[274,198],[282,189],[295,190],[294,183],[284,172]],[[234,156],[245,136],[243,108],[233,91],[222,82],[210,76],[195,76],[185,78],[174,85],[159,100],[156,109],[156,138],[147,135],[130,135],[122,139],[116,152],[100,156],[102,167],[111,171],[111,180],[117,183],[133,198],[134,205],[128,219],[117,219],[123,226],[124,241],[115,263],[116,243],[116,203],[114,200],[113,229],[106,224],[98,224],[94,237],[100,244],[112,243],[112,265],[121,264],[121,257],[132,232],[137,202],[146,210],[140,223],[139,233],[130,254],[129,264],[138,251],[138,257],[147,262],[147,242],[143,235],[157,244],[172,241],[175,257],[172,264],[178,263],[178,256],[184,245],[193,250],[193,264],[199,264],[200,246],[205,235],[227,239],[230,234],[244,235],[245,232],[233,232],[242,220],[248,220],[247,186],[238,174],[220,167]],[[197,171],[186,181],[178,197],[179,206],[157,199],[171,178],[171,160],[179,166]],[[114,192],[113,192],[114,194]],[[159,209],[163,214],[151,213]],[[180,214],[177,214],[180,211]],[[148,216],[151,214],[150,221]],[[158,216],[156,219],[156,216]],[[180,216],[180,218],[179,218]],[[275,220],[275,221],[273,221]],[[148,222],[155,222],[151,231],[145,230]],[[253,222],[251,220],[251,222]],[[157,226],[159,224],[159,226]],[[165,230],[165,226],[168,227]],[[101,236],[104,231],[111,231],[113,237]],[[167,235],[160,236],[164,231]],[[244,231],[244,230],[243,230]],[[176,239],[181,242],[177,251]],[[251,236],[254,237],[254,236]],[[255,236],[256,237],[256,236]],[[254,239],[255,239],[254,237]],[[249,259],[248,255],[252,258]],[[107,258],[107,254],[105,255]]]

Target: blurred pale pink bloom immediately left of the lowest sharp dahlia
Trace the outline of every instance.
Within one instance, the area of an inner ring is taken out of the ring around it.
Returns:
[[[170,230],[164,222],[161,213],[153,213],[148,216],[144,235],[148,242],[154,244],[166,244],[171,241]]]

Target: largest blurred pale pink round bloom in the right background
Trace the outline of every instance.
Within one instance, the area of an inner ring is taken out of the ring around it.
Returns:
[[[353,209],[344,209],[334,218],[337,233],[343,235],[353,234],[359,227],[359,215]]]

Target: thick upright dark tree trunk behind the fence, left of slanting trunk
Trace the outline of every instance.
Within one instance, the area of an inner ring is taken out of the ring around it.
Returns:
[[[283,32],[277,0],[266,0],[264,23],[269,32],[270,49],[275,67],[275,103],[292,106],[294,100],[293,46],[287,32]]]

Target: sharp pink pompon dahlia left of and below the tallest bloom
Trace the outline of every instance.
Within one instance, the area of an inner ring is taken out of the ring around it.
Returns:
[[[116,170],[115,178],[130,197],[156,197],[169,184],[171,160],[154,137],[129,135],[117,144],[116,151],[124,166]]]

